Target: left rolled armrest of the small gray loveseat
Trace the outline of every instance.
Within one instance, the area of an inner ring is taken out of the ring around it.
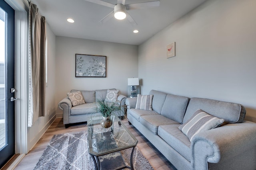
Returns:
[[[68,116],[71,115],[70,109],[72,107],[72,103],[68,97],[66,97],[59,102],[58,106],[63,110],[63,124],[66,125],[69,123]]]

